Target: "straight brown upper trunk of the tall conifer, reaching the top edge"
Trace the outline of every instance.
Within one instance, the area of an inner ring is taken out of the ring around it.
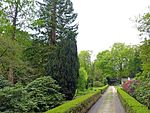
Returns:
[[[49,36],[49,41],[50,44],[55,45],[56,43],[56,0],[52,1],[51,25],[52,25],[52,30]]]

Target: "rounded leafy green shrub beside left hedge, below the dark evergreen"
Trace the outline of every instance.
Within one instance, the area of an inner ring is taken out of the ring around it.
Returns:
[[[28,93],[27,98],[35,103],[30,109],[40,112],[62,104],[63,95],[59,93],[59,89],[60,87],[51,77],[41,77],[28,84],[25,88]]]

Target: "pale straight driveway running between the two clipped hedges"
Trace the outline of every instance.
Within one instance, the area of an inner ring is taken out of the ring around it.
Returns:
[[[125,113],[115,87],[109,86],[87,113]]]

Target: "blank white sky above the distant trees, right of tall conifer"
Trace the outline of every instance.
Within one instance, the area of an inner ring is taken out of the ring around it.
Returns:
[[[71,0],[78,13],[78,52],[110,49],[115,42],[138,44],[133,20],[148,11],[150,0]]]

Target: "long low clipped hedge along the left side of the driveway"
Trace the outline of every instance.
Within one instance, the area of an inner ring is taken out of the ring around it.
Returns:
[[[46,113],[85,113],[101,97],[101,94],[107,89],[107,87],[108,86],[104,86],[98,91],[66,102]]]

